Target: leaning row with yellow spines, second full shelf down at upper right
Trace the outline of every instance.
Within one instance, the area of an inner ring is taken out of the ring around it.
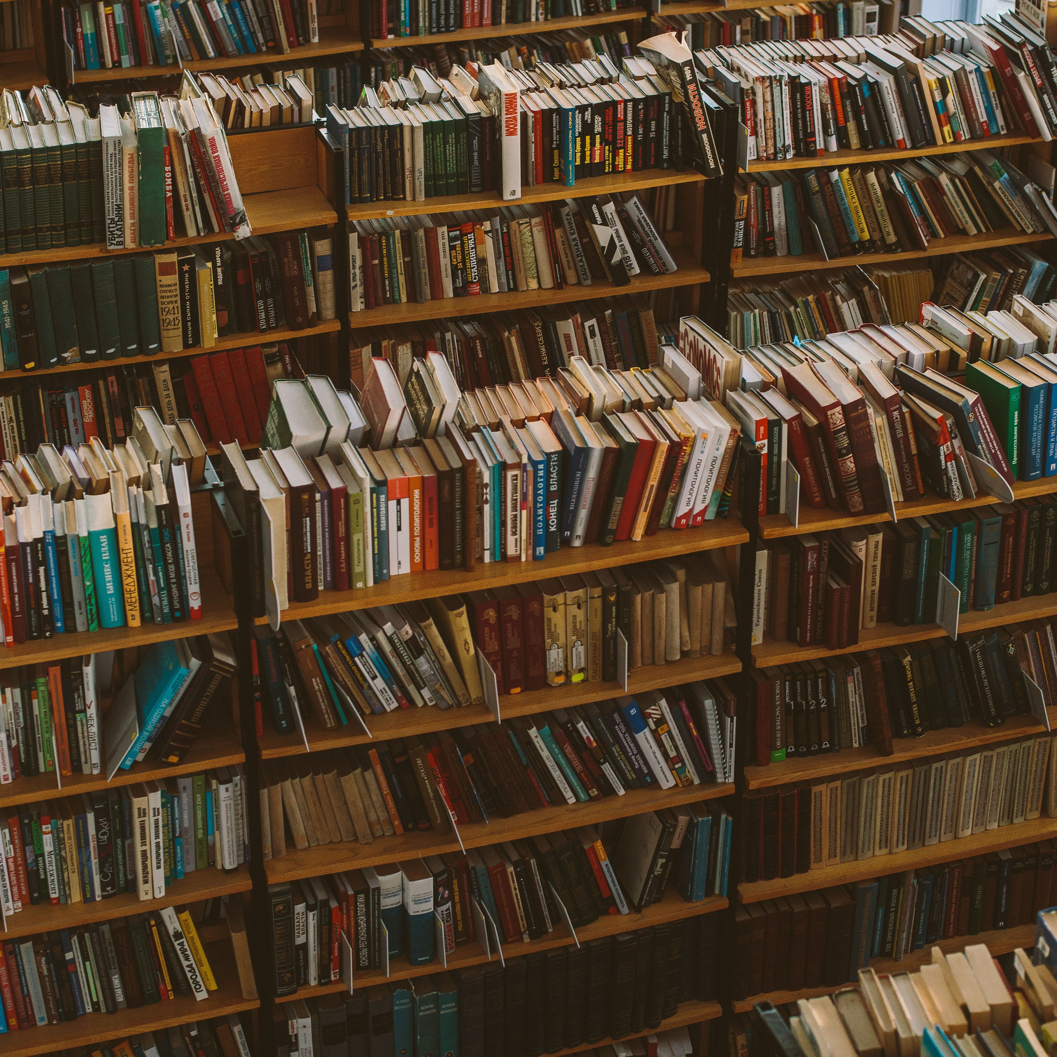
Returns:
[[[988,150],[888,165],[761,172],[745,178],[747,257],[827,260],[933,240],[1012,229],[1057,231],[1050,198],[1012,162]],[[817,234],[815,234],[817,231]]]

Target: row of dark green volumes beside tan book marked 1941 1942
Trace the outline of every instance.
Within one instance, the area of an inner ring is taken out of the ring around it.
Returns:
[[[323,228],[182,251],[0,271],[3,370],[208,349],[333,319]]]

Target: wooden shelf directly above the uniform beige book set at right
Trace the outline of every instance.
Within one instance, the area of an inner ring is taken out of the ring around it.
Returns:
[[[1057,725],[1057,706],[1049,709],[1050,725]],[[1042,734],[1042,724],[1032,716],[1014,716],[997,727],[984,726],[973,720],[960,727],[945,727],[942,730],[926,730],[920,738],[896,738],[892,742],[891,756],[882,756],[875,746],[841,749],[839,753],[822,753],[818,756],[794,756],[780,763],[766,766],[746,766],[743,771],[745,787],[749,790],[772,789],[794,782],[815,782],[831,775],[842,775],[864,767],[900,767],[910,760],[944,753],[965,753],[980,745],[1010,739],[1027,738]]]

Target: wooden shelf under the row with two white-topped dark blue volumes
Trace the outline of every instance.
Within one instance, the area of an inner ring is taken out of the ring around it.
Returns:
[[[631,911],[627,914],[607,914],[585,928],[576,930],[576,940],[581,944],[590,940],[599,940],[618,932],[632,932],[651,925],[662,925],[665,922],[685,921],[699,914],[710,914],[717,910],[726,910],[729,906],[725,895],[709,895],[700,903],[687,903],[673,888],[665,892],[664,898],[647,907],[642,913]],[[555,947],[570,947],[576,941],[565,930],[563,924],[555,923],[554,931],[528,943],[506,943],[503,941],[504,958],[521,958],[523,954],[534,954],[539,950],[552,950]],[[406,958],[389,960],[389,976],[383,969],[370,969],[357,972],[354,978],[355,987],[370,987],[373,984],[384,984],[391,980],[408,980],[411,977],[430,976],[434,972],[455,972],[471,965],[484,965],[490,959],[484,953],[476,941],[457,947],[453,954],[448,954],[447,968],[434,958],[428,965],[409,965]],[[315,987],[298,987],[294,995],[284,995],[280,1001],[289,1002],[294,998],[314,998],[318,995],[347,991],[349,984],[338,980],[332,984],[318,984]]]

